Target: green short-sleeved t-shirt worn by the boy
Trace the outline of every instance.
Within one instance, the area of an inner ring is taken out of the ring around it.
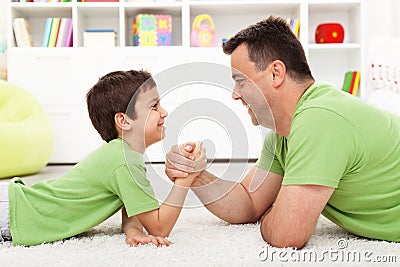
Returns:
[[[9,185],[14,245],[36,245],[82,233],[124,205],[128,216],[159,207],[143,156],[122,139],[103,144],[60,178]]]

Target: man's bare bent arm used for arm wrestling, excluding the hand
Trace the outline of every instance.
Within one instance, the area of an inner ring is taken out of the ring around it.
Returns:
[[[203,171],[191,189],[214,215],[229,223],[256,222],[278,195],[282,176],[253,167],[241,183]]]

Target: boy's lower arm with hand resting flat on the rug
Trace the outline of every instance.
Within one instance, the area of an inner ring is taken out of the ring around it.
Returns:
[[[143,233],[143,226],[136,216],[128,217],[125,207],[122,208],[122,231],[126,235],[125,242],[130,246],[152,243],[155,246],[169,246],[170,241],[159,236],[148,236]]]

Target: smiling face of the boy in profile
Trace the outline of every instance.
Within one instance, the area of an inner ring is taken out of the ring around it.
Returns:
[[[135,104],[135,124],[144,130],[145,147],[148,147],[164,138],[164,119],[168,112],[160,105],[160,96],[157,88],[148,89],[140,93]]]

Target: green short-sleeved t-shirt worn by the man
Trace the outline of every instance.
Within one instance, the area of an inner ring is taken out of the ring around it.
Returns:
[[[270,133],[256,166],[283,185],[334,187],[322,214],[356,235],[400,241],[400,117],[315,83],[287,138]]]

